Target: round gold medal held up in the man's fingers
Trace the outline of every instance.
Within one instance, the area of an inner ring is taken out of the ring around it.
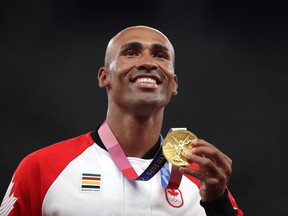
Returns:
[[[192,150],[192,140],[196,135],[188,130],[174,130],[163,140],[162,150],[165,158],[176,166],[187,166],[186,155]]]

